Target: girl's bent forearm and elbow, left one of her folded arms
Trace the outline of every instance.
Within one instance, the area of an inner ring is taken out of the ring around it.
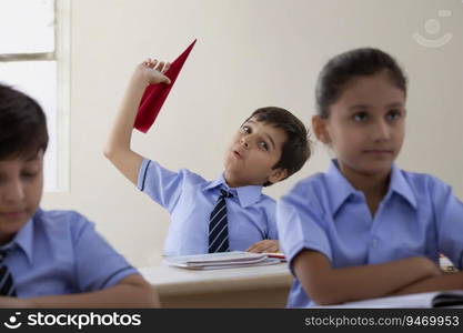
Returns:
[[[411,283],[442,274],[432,261],[421,256],[333,269],[325,255],[310,250],[294,258],[293,269],[305,293],[320,305],[385,296]]]

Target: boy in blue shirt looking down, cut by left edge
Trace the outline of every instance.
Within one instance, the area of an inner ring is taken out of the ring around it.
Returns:
[[[0,84],[0,306],[152,307],[151,285],[74,211],[43,211],[46,117]]]

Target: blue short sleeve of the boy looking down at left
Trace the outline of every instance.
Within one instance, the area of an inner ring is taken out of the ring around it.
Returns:
[[[102,290],[123,278],[139,274],[127,260],[94,230],[94,224],[77,215],[72,223],[76,274],[80,292]]]

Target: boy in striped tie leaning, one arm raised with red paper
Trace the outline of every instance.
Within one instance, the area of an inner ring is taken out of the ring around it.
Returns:
[[[168,68],[157,60],[137,67],[105,150],[125,178],[169,211],[164,254],[279,251],[275,202],[262,188],[290,176],[309,159],[305,127],[284,109],[262,108],[233,137],[218,179],[167,170],[133,152],[130,142],[147,84],[169,84]]]

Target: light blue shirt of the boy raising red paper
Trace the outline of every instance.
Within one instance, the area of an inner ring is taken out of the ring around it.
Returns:
[[[262,194],[262,186],[229,188],[223,175],[205,181],[187,169],[172,172],[143,160],[138,188],[170,213],[165,255],[208,253],[209,219],[220,189],[233,194],[225,200],[230,251],[244,251],[255,242],[278,239],[275,201]]]

